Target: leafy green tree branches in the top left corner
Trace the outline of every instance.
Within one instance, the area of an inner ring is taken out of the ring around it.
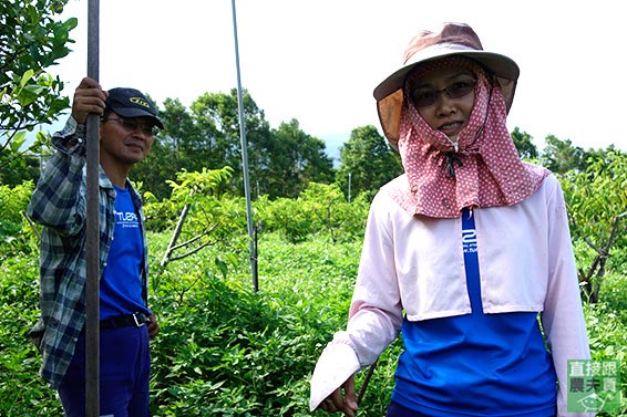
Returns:
[[[76,19],[56,21],[66,0],[0,2],[0,180],[22,180],[28,169],[22,146],[27,132],[50,124],[68,108],[63,83],[45,69],[65,56]],[[37,152],[43,136],[31,150]]]

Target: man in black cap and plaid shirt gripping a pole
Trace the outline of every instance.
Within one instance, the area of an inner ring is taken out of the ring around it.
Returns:
[[[31,331],[41,376],[66,416],[85,414],[85,121],[100,123],[100,411],[148,416],[148,338],[158,331],[147,305],[147,247],[142,200],[127,175],[148,154],[163,124],[134,88],[102,90],[83,79],[72,115],[52,137],[28,213],[43,226],[41,317]]]

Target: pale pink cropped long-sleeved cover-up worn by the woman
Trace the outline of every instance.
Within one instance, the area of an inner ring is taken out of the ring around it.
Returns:
[[[390,187],[407,187],[407,178],[384,186],[372,201],[348,326],[327,347],[346,354],[349,346],[360,367],[394,341],[403,311],[410,321],[471,312],[461,219],[410,216],[390,198]],[[589,348],[559,183],[548,176],[524,201],[473,215],[483,312],[542,312],[559,382],[558,415],[566,415],[567,361],[589,358]],[[335,356],[328,352],[320,361]],[[337,368],[319,365],[316,372]]]

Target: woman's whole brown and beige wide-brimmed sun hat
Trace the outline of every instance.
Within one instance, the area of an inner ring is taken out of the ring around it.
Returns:
[[[395,149],[407,75],[420,63],[452,55],[466,56],[482,64],[498,81],[507,112],[512,107],[520,74],[518,65],[512,59],[484,51],[476,33],[464,23],[444,23],[438,31],[421,31],[409,43],[403,66],[380,83],[373,93],[383,134]]]

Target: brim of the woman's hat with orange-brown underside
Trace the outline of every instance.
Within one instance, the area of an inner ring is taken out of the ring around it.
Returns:
[[[393,148],[398,149],[399,131],[401,122],[401,108],[403,104],[403,85],[407,75],[418,64],[441,60],[446,56],[466,56],[485,66],[489,71],[496,75],[507,112],[514,102],[514,93],[520,75],[518,65],[510,58],[479,50],[443,50],[441,48],[432,48],[415,53],[400,69],[381,82],[373,92],[377,100],[377,111],[383,134],[390,140]]]

